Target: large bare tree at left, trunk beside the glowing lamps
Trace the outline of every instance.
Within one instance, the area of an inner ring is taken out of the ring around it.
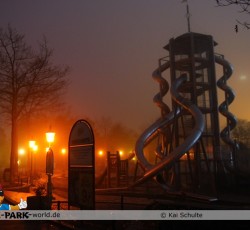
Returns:
[[[55,109],[68,85],[68,67],[53,65],[51,57],[45,38],[35,52],[11,26],[0,29],[0,112],[11,124],[11,180],[18,172],[18,120]]]

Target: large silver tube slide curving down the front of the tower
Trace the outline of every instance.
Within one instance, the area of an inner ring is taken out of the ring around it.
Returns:
[[[164,66],[160,66],[159,69],[154,72],[153,77],[157,77],[158,75],[158,81],[163,81],[162,77],[160,76],[160,73],[166,68],[168,68],[168,66],[168,63],[166,63]],[[172,84],[170,89],[172,99],[179,105],[179,108],[176,108],[175,111],[169,112],[165,115],[164,118],[161,118],[155,123],[153,123],[148,129],[146,129],[142,133],[142,135],[136,142],[135,153],[139,164],[145,170],[145,174],[142,178],[136,181],[133,186],[139,185],[150,178],[154,178],[158,183],[161,184],[163,188],[166,189],[168,186],[164,182],[160,182],[156,176],[161,173],[161,171],[170,169],[178,159],[180,159],[188,150],[192,148],[192,146],[198,141],[199,137],[201,136],[204,129],[204,120],[202,113],[195,104],[185,99],[178,93],[178,89],[186,81],[187,76],[183,74]],[[166,90],[164,92],[166,93]],[[163,104],[163,102],[161,102],[161,96],[156,95],[156,97],[154,98],[154,100],[158,99],[158,104],[160,106],[162,106]],[[175,119],[177,119],[177,117],[180,115],[181,110],[183,109],[188,111],[195,120],[195,126],[192,129],[190,135],[184,140],[181,145],[176,147],[170,154],[168,154],[167,156],[163,156],[162,160],[158,164],[150,164],[150,162],[148,162],[148,160],[144,156],[144,147],[149,144],[150,141],[157,135],[159,129],[164,129],[166,126],[174,122]]]

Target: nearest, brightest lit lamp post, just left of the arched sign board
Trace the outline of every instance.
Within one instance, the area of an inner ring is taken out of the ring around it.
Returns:
[[[46,133],[46,140],[49,143],[49,148],[46,153],[46,174],[48,176],[48,183],[47,183],[47,196],[49,197],[50,202],[52,202],[52,181],[51,177],[54,173],[54,154],[51,149],[51,144],[55,140],[55,133],[49,131]]]

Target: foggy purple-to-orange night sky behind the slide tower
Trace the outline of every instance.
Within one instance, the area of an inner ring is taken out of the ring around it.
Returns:
[[[234,31],[236,19],[250,16],[213,0],[189,0],[189,8],[191,31],[212,35],[215,52],[234,66],[230,111],[250,120],[250,30]],[[54,63],[71,68],[66,98],[74,116],[110,117],[135,129],[160,116],[151,74],[168,55],[163,46],[187,32],[181,0],[3,0],[0,27],[8,23],[32,47],[45,35]]]

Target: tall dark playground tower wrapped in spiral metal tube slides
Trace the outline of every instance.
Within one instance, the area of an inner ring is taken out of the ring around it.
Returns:
[[[154,102],[161,117],[136,143],[136,157],[144,174],[134,186],[153,178],[167,190],[215,194],[218,185],[225,183],[227,169],[234,168],[237,146],[230,132],[237,120],[229,112],[234,93],[227,85],[233,68],[214,53],[216,45],[210,35],[189,32],[170,39],[164,47],[169,56],[159,60],[152,74],[160,85]],[[168,69],[170,86],[163,76]],[[222,73],[218,81],[216,72]],[[220,105],[217,86],[225,95]],[[171,108],[164,102],[169,89]],[[222,131],[219,113],[227,124]],[[150,145],[155,146],[150,152],[155,162],[144,151]]]

